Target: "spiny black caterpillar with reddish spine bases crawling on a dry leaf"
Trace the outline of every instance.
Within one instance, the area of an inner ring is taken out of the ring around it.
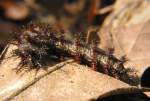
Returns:
[[[21,57],[21,67],[40,69],[55,55],[58,59],[64,57],[75,58],[78,63],[92,66],[103,72],[128,83],[135,79],[128,75],[123,61],[115,58],[112,51],[105,52],[97,48],[96,43],[86,44],[80,37],[67,40],[65,31],[57,26],[44,23],[30,23],[19,32],[18,49],[15,55]],[[126,80],[127,78],[127,80]]]

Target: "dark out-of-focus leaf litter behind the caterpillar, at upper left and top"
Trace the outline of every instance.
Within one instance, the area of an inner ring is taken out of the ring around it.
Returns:
[[[30,21],[57,24],[71,33],[100,27],[115,0],[0,0],[0,51]]]

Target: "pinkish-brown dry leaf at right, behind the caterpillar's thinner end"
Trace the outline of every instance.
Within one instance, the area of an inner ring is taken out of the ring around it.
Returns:
[[[108,28],[101,30],[101,45],[107,50],[115,48],[114,55],[118,58],[126,55],[129,60],[125,67],[133,67],[141,75],[150,66],[150,21],[130,27]]]

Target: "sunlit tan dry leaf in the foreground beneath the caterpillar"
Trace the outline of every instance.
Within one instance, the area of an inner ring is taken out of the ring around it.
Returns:
[[[17,47],[10,45],[5,58],[11,56]],[[106,97],[114,94],[137,93],[149,91],[130,86],[107,75],[92,71],[88,67],[76,63],[60,63],[60,69],[52,66],[47,71],[31,70],[16,74],[13,69],[18,66],[20,59],[11,57],[4,59],[0,68],[0,99],[11,101],[87,101],[97,97]],[[24,72],[24,74],[23,74]],[[36,75],[35,75],[36,74]]]

